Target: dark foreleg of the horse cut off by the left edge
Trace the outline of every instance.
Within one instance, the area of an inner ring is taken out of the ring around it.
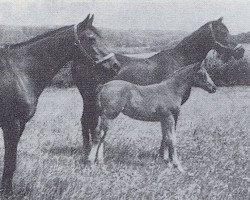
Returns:
[[[5,154],[1,191],[8,195],[12,192],[13,174],[16,169],[17,145],[25,124],[19,120],[6,123],[3,128]]]

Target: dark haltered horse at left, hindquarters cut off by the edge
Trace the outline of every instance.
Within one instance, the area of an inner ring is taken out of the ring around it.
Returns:
[[[0,126],[5,145],[1,191],[5,194],[12,191],[17,145],[25,124],[34,115],[40,94],[58,70],[71,60],[97,69],[117,67],[116,59],[108,55],[92,22],[93,16],[88,16],[78,25],[62,27],[0,50]]]

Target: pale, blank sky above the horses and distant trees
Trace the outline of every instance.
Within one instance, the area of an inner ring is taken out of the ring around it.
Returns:
[[[250,31],[250,0],[0,0],[0,24],[66,25],[88,13],[112,29],[191,32],[222,16],[232,34]]]

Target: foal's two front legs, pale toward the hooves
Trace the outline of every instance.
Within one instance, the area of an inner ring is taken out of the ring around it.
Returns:
[[[160,147],[160,157],[170,161],[171,165],[177,167],[181,172],[184,169],[177,156],[176,151],[176,132],[175,132],[175,119],[173,115],[170,115],[161,121],[162,128],[162,142]],[[168,154],[166,154],[166,147],[168,148]]]

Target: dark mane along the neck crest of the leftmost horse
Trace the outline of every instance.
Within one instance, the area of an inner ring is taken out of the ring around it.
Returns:
[[[63,31],[65,29],[68,29],[70,27],[72,27],[72,25],[63,26],[61,28],[45,32],[45,33],[43,33],[41,35],[37,35],[37,36],[35,36],[35,37],[33,37],[33,38],[29,39],[29,40],[26,40],[24,42],[20,42],[20,43],[16,43],[16,44],[9,44],[8,48],[9,49],[14,49],[14,48],[18,48],[18,47],[22,47],[22,46],[26,46],[26,45],[32,44],[32,43],[34,43],[34,42],[36,42],[38,40],[42,40],[42,39],[44,39],[46,37],[53,36],[53,35],[57,34],[58,32]]]

